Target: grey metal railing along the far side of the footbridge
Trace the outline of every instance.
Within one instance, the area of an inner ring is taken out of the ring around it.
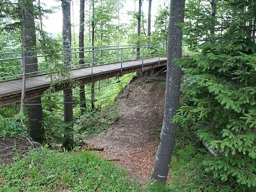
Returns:
[[[140,48],[140,53],[137,48]],[[89,66],[106,65],[109,63],[122,63],[130,60],[152,57],[166,57],[166,48],[164,46],[95,46],[85,48],[72,48],[71,69],[85,68]],[[84,59],[79,59],[79,54],[84,54]],[[63,50],[56,50],[54,53],[43,54],[43,51],[26,52],[26,58],[23,52],[2,52],[0,53],[0,81],[19,79],[22,77],[22,64],[24,60],[30,60],[26,64],[26,76],[34,74],[54,73],[56,68],[62,68]],[[31,62],[31,61],[34,61]]]

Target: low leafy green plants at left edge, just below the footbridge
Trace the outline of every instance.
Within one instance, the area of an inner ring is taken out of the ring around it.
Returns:
[[[25,133],[26,130],[24,127],[16,122],[15,120],[8,120],[0,115],[0,137],[16,137],[18,138],[22,133]]]

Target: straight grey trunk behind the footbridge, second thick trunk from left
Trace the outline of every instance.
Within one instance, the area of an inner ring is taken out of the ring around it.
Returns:
[[[71,67],[71,13],[70,0],[62,0],[62,45],[63,45],[63,65]],[[65,135],[63,147],[72,149],[74,144],[73,138],[73,96],[72,89],[68,88],[63,91],[64,100],[64,121]]]

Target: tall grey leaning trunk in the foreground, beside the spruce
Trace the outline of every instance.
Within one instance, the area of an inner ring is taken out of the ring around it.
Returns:
[[[184,10],[185,0],[170,1],[165,111],[152,171],[152,179],[161,183],[166,183],[177,127],[172,123],[172,117],[176,115],[176,110],[179,108],[181,69],[176,65],[175,59],[182,57],[182,28],[178,24],[183,23]]]

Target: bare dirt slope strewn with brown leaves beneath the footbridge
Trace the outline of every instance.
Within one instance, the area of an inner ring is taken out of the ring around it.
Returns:
[[[125,167],[139,183],[145,183],[152,171],[162,125],[165,85],[161,81],[129,84],[126,97],[119,100],[121,123],[87,140],[98,148],[102,157]]]

